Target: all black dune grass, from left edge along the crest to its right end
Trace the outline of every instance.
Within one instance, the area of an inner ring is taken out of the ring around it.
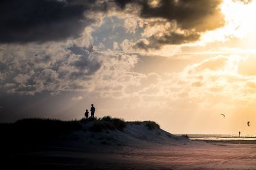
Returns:
[[[125,122],[121,118],[82,118],[81,120],[63,121],[50,118],[25,118],[11,124],[0,124],[0,149],[11,146],[13,150],[28,150],[41,145],[48,145],[56,140],[67,138],[67,134],[74,131],[86,131],[83,124],[92,124],[89,131],[102,132],[124,131],[127,124],[145,125],[149,130],[159,129],[156,122]],[[7,150],[7,149],[6,149]]]

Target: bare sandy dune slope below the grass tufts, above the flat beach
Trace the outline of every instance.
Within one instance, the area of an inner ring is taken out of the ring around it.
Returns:
[[[162,145],[162,144],[182,144],[189,143],[187,138],[175,136],[162,129],[149,130],[145,125],[127,124],[124,131],[104,130],[102,132],[91,132],[88,129],[92,122],[83,125],[83,131],[73,132],[68,139],[81,148],[89,148],[91,145],[106,144],[109,146],[131,146],[140,147]],[[66,143],[67,144],[67,143]],[[72,144],[73,145],[73,144]]]

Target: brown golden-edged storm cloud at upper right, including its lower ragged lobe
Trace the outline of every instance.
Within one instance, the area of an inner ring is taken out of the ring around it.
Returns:
[[[194,42],[200,39],[200,34],[222,27],[225,24],[224,16],[220,10],[221,0],[159,0],[157,6],[150,5],[149,1],[135,0],[115,0],[121,9],[125,9],[126,4],[136,4],[141,7],[141,18],[162,18],[166,22],[175,22],[176,30],[161,30],[160,34],[154,34],[137,41],[134,48],[160,48],[162,45],[180,45]],[[151,22],[151,27],[159,25],[159,21]],[[166,23],[165,22],[165,23]],[[165,23],[161,23],[164,25]],[[177,29],[181,30],[177,31]],[[160,36],[159,36],[160,35]]]

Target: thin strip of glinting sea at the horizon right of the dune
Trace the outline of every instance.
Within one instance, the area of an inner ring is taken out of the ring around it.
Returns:
[[[256,136],[238,136],[232,134],[176,134],[176,135],[188,135],[191,140],[211,140],[211,141],[227,141],[227,140],[256,140]]]

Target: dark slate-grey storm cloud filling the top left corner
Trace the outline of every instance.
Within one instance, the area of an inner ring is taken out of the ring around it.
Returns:
[[[0,43],[76,38],[86,24],[93,22],[84,17],[93,3],[92,0],[0,1]]]

